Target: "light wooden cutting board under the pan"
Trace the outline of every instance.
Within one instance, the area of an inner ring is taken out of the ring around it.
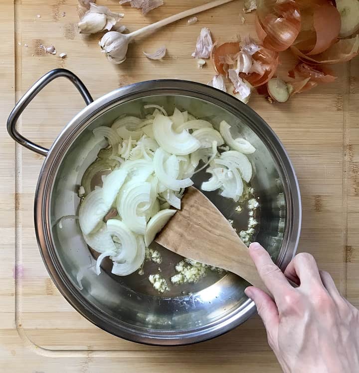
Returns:
[[[148,17],[118,1],[98,2],[114,11],[123,9],[124,24],[135,30],[204,0],[165,0]],[[76,313],[49,279],[35,240],[33,197],[43,158],[15,146],[4,127],[15,100],[55,67],[78,74],[95,98],[147,79],[207,83],[214,75],[212,66],[199,70],[190,57],[199,30],[209,27],[219,43],[235,40],[237,34],[254,34],[254,13],[245,14],[243,24],[241,8],[242,1],[235,0],[198,14],[194,25],[186,20],[169,25],[132,45],[128,61],[114,66],[100,53],[97,36],[77,33],[75,0],[1,1],[1,372],[280,371],[258,317],[212,341],[159,348],[113,337]],[[53,44],[57,54],[46,55],[40,44]],[[142,53],[164,44],[164,61],[148,60]],[[61,52],[67,57],[61,59]],[[285,56],[283,71],[289,66],[291,58]],[[342,294],[359,306],[359,59],[335,71],[335,83],[286,104],[270,104],[253,95],[250,106],[276,131],[296,168],[303,197],[299,250],[312,253],[320,267],[332,273]],[[19,128],[49,147],[82,107],[67,81],[54,81],[26,109]]]

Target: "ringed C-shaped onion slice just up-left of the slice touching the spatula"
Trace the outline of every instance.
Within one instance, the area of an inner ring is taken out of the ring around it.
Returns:
[[[117,199],[117,211],[131,231],[144,234],[146,217],[138,215],[138,206],[151,201],[151,184],[129,182],[125,184]]]

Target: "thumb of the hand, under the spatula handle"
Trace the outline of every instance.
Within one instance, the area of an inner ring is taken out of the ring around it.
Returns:
[[[276,304],[272,298],[263,290],[249,286],[244,293],[256,305],[258,315],[261,317],[264,327],[267,330],[268,340],[276,341],[279,326],[279,316]]]

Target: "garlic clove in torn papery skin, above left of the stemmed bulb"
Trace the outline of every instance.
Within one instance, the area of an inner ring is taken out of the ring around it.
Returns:
[[[114,13],[107,6],[99,6],[91,2],[90,9],[81,17],[77,26],[80,33],[110,31],[123,16],[123,13]]]

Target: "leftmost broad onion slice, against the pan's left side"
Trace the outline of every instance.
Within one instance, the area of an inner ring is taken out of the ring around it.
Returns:
[[[109,210],[103,199],[102,188],[97,188],[89,193],[82,201],[79,209],[79,223],[83,234],[90,234]]]

